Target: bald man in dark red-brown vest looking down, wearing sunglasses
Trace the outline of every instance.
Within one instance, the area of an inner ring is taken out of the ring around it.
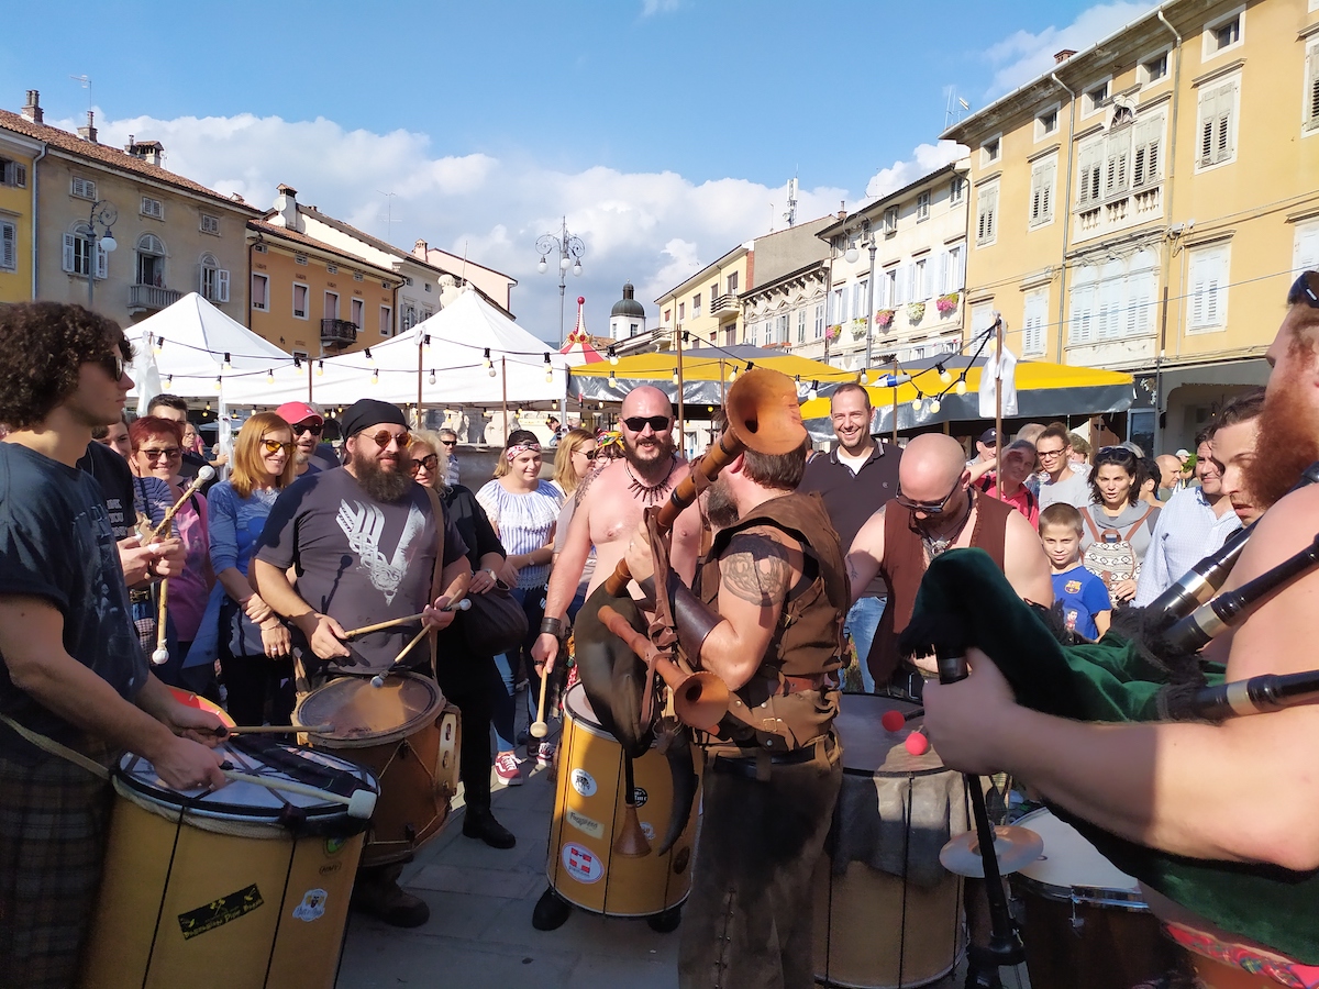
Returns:
[[[977,546],[993,556],[1024,599],[1053,604],[1049,558],[1030,522],[1010,505],[971,487],[971,471],[958,440],[926,433],[907,443],[902,454],[897,497],[871,516],[847,554],[853,596],[876,574],[889,585],[889,607],[868,657],[876,683],[888,683],[898,674],[897,682],[909,686],[915,696],[922,680],[935,675],[934,657],[917,659],[914,670],[905,667],[897,637],[911,618],[915,592],[930,560],[966,546]]]

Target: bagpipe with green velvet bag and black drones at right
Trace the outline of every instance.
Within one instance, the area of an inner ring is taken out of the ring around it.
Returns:
[[[1319,464],[1301,485],[1319,479]],[[981,550],[952,550],[926,571],[900,649],[942,659],[983,650],[1017,703],[1078,721],[1210,721],[1319,700],[1319,670],[1227,682],[1225,669],[1199,650],[1240,624],[1252,608],[1319,563],[1319,535],[1294,556],[1233,591],[1227,580],[1252,530],[1207,556],[1145,609],[1115,614],[1099,642],[1079,642],[1057,612],[1022,601]],[[1212,785],[1206,781],[1206,785]],[[1307,963],[1319,961],[1319,870],[1212,861],[1129,841],[1053,808],[1113,865],[1224,930]]]

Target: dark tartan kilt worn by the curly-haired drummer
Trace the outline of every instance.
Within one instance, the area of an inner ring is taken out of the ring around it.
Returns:
[[[116,757],[95,749],[84,754],[102,765]],[[73,986],[113,790],[57,756],[26,765],[0,754],[0,989]]]

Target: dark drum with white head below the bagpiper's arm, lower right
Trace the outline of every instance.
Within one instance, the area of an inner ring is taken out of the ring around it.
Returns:
[[[1025,907],[1033,989],[1130,986],[1177,965],[1136,880],[1047,808],[1016,823],[1045,841],[1039,860],[1009,877]]]

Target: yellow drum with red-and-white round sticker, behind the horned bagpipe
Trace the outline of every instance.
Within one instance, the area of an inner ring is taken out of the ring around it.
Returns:
[[[623,746],[595,720],[586,687],[563,699],[559,775],[545,873],[563,899],[607,916],[650,916],[678,906],[691,889],[698,799],[682,837],[663,854],[630,858],[613,852],[623,825]],[[652,845],[663,840],[673,812],[673,775],[652,749],[633,761],[637,819]]]

